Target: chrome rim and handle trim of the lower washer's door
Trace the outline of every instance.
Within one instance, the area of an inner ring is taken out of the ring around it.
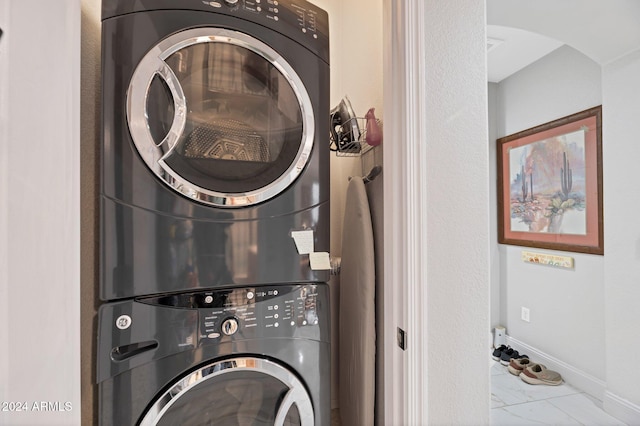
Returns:
[[[274,426],[283,426],[286,415],[294,404],[300,415],[301,426],[314,425],[314,412],[311,397],[304,384],[289,370],[273,361],[254,357],[239,357],[213,362],[180,379],[165,391],[145,413],[140,426],[155,426],[162,416],[184,396],[191,388],[205,380],[211,380],[236,371],[255,371],[278,379],[289,388],[278,408]]]

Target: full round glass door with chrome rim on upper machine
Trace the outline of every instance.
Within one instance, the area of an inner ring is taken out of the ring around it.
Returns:
[[[196,28],[162,40],[136,67],[126,107],[146,165],[213,206],[276,196],[313,147],[302,80],[275,50],[238,31]]]

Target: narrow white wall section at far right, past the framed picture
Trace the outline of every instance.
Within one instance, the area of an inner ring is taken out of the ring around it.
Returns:
[[[640,51],[602,71],[605,206],[604,299],[606,331],[605,409],[640,424],[640,369],[628,357],[640,351]]]

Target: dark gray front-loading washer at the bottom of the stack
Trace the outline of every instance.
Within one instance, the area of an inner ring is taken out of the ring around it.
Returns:
[[[104,304],[100,425],[328,425],[329,318],[326,284]]]

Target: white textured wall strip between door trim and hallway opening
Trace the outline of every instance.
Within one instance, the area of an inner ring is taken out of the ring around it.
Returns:
[[[426,139],[408,143],[426,144],[429,423],[486,424],[486,358],[453,355],[485,353],[489,327],[485,2],[425,3]]]

